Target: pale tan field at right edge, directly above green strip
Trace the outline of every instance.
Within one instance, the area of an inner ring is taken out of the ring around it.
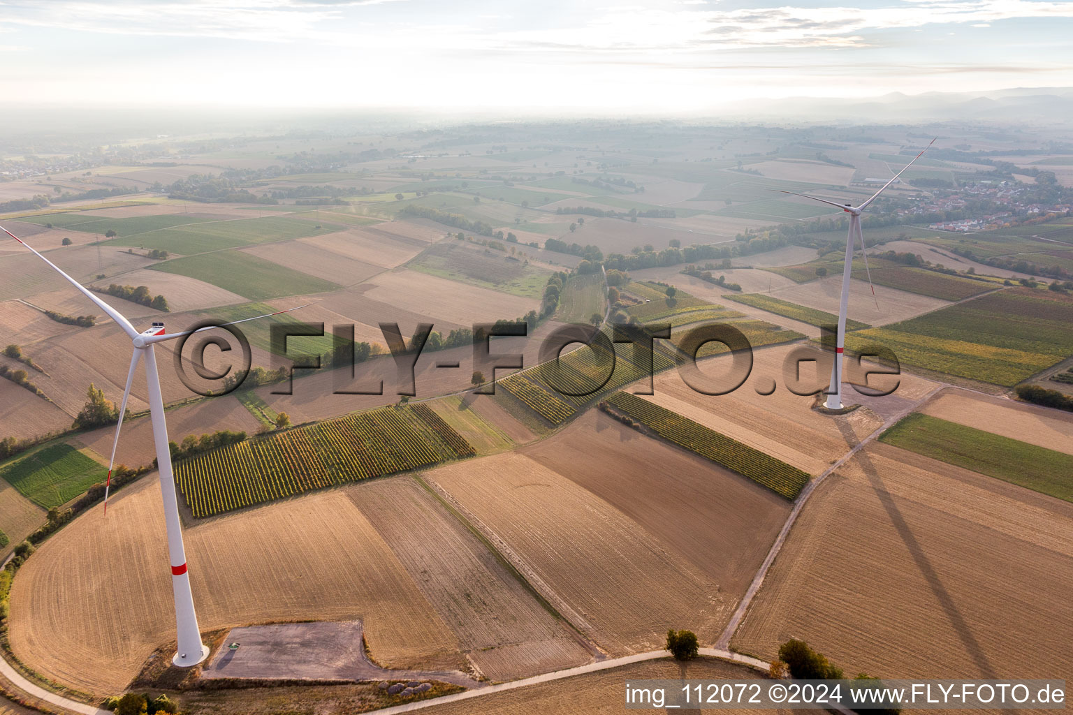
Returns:
[[[921,409],[966,427],[1073,455],[1073,416],[952,388]]]

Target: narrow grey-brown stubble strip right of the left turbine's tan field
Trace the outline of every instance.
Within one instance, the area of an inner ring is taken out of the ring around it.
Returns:
[[[380,532],[470,660],[493,681],[588,662],[591,654],[488,548],[414,478],[350,497]]]

